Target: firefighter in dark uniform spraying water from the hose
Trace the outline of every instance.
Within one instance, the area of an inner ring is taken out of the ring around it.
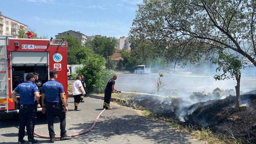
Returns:
[[[105,94],[104,94],[104,104],[103,104],[103,109],[113,109],[109,107],[110,100],[111,100],[111,94],[114,93],[116,90],[114,88],[115,86],[115,80],[117,79],[117,76],[114,75],[112,79],[110,79],[106,85],[105,88]]]

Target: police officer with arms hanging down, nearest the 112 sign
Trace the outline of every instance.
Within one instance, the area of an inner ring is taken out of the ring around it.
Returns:
[[[54,143],[55,133],[53,128],[54,114],[58,116],[61,127],[61,140],[70,140],[72,137],[66,133],[66,112],[67,104],[63,86],[55,81],[58,77],[56,70],[51,70],[50,80],[42,86],[42,112],[46,113],[50,143]],[[64,105],[64,108],[62,106]]]

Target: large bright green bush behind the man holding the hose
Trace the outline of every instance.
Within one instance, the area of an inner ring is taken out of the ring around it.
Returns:
[[[86,93],[104,93],[106,83],[113,77],[114,72],[105,68],[105,58],[98,54],[92,54],[82,60],[82,67],[76,71],[84,75]]]

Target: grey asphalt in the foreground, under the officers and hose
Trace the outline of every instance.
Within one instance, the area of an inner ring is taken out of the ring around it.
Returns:
[[[84,103],[80,103],[80,112],[73,111],[73,98],[69,98],[69,112],[67,113],[68,134],[80,132],[91,127],[97,115],[101,112],[102,101],[93,98],[85,98]],[[110,104],[112,105],[112,104]],[[140,116],[135,110],[124,106],[112,105],[113,110],[106,110],[96,127],[81,136],[74,137],[69,141],[56,140],[59,144],[77,143],[101,143],[101,144],[156,144],[156,143],[176,143],[194,144],[201,143],[190,140],[187,133],[177,132],[161,121],[152,120]],[[58,118],[55,119],[55,132],[59,135]],[[18,140],[18,119],[0,121],[0,143],[17,143]],[[46,118],[39,116],[35,130],[47,135],[48,129]],[[27,140],[27,136],[24,138]],[[36,138],[39,143],[47,143],[47,139]]]

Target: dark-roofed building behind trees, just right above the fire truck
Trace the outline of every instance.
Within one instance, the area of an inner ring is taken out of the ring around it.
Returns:
[[[87,36],[85,34],[82,34],[80,31],[72,31],[72,30],[58,33],[58,35],[55,35],[55,38],[61,39],[63,36],[68,36],[68,35],[78,38],[78,40],[81,42],[82,45],[87,41]]]

